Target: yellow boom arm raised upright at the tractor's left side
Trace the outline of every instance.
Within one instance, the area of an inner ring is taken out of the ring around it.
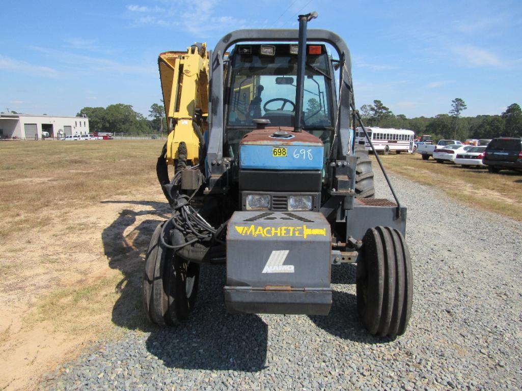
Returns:
[[[207,45],[195,44],[186,52],[161,53],[158,67],[169,128],[167,164],[174,164],[182,141],[187,145],[187,160],[198,164],[199,137],[195,128],[201,135],[208,128]]]

